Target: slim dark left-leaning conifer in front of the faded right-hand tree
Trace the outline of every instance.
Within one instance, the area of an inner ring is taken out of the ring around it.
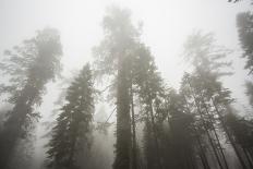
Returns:
[[[218,135],[218,123],[214,118],[215,114],[213,113],[213,108],[209,105],[209,99],[214,96],[214,92],[212,93],[210,87],[213,88],[217,86],[217,84],[214,76],[210,74],[205,74],[205,76],[202,75],[184,75],[183,88],[184,93],[186,93],[185,97],[188,101],[192,100],[192,105],[195,107],[195,118],[200,121],[197,128],[202,129],[204,134],[207,136],[207,145],[210,145],[213,155],[215,156],[219,168],[228,168],[227,159]],[[185,87],[188,87],[188,92],[185,92]],[[212,94],[212,96],[208,94]]]

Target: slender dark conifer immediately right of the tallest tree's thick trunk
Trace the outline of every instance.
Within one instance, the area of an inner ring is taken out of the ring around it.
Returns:
[[[147,141],[146,153],[156,153],[154,160],[150,159],[152,155],[146,155],[148,168],[162,168],[162,157],[161,149],[159,147],[158,138],[158,125],[159,123],[158,111],[156,107],[156,100],[164,94],[165,86],[162,79],[157,71],[157,67],[154,61],[149,49],[143,45],[136,45],[135,58],[133,64],[133,84],[136,85],[135,90],[141,99],[141,104],[144,107],[144,118],[145,118],[145,132]],[[153,147],[154,146],[154,147]],[[149,148],[149,149],[148,149]],[[150,165],[150,161],[155,161]]]

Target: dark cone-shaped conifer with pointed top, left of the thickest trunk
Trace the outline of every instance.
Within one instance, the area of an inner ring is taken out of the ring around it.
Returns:
[[[91,146],[94,88],[89,64],[86,64],[71,83],[65,101],[48,144],[47,154],[50,160],[48,168],[77,169],[79,155],[84,160],[82,150],[88,150]]]

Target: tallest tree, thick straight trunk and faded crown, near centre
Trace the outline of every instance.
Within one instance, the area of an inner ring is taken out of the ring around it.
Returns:
[[[138,31],[133,26],[130,12],[111,7],[104,17],[105,38],[94,49],[97,71],[113,76],[117,105],[115,169],[129,169],[131,164],[131,81],[130,62]]]

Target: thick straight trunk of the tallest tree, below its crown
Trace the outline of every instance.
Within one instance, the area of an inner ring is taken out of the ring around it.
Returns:
[[[116,159],[113,169],[130,169],[131,118],[126,63],[119,59],[117,80]]]

